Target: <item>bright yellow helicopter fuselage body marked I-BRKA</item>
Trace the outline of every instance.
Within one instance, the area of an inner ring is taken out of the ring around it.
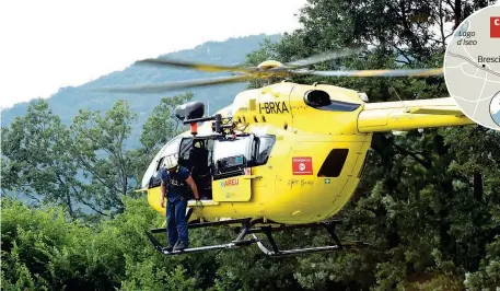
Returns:
[[[304,95],[312,90],[327,92],[333,101],[352,107],[346,110],[309,106]],[[232,106],[219,113],[232,115],[242,132],[276,136],[276,143],[265,165],[252,167],[246,175],[228,178],[228,183],[226,179],[213,181],[213,200],[202,201],[202,208],[195,207],[190,220],[263,218],[278,223],[302,224],[336,214],[359,184],[373,132],[381,131],[384,125],[397,130],[420,127],[418,123],[408,123],[405,116],[410,110],[406,105],[404,108],[372,108],[368,115],[364,114],[364,119],[360,119],[363,109],[367,112],[367,105],[370,104],[365,104],[358,92],[333,85],[282,82],[240,93]],[[396,123],[391,116],[397,116]],[[441,120],[440,126],[470,124],[464,117],[434,117]],[[429,118],[421,119],[421,127],[432,126]],[[405,121],[404,127],[398,127],[397,120]],[[370,130],[371,125],[374,130]],[[200,126],[199,133],[209,133],[211,123],[206,123]],[[189,137],[190,132],[183,136]],[[334,159],[334,163],[329,160],[324,165],[335,149],[348,150],[347,158]],[[300,165],[300,161],[305,162]],[[322,176],[318,175],[322,166],[339,167],[340,171]],[[165,214],[165,209],[161,207],[160,187],[148,189],[148,201]],[[195,206],[195,202],[189,201],[188,206]]]

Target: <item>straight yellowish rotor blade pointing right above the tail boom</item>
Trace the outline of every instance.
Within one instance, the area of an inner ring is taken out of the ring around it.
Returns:
[[[350,70],[350,71],[313,71],[293,70],[293,74],[309,74],[321,77],[428,77],[442,75],[442,68],[433,69],[402,69],[402,70]]]

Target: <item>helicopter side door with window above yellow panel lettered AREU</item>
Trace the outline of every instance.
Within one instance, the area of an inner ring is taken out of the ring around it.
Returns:
[[[252,197],[253,136],[218,139],[213,143],[213,201],[248,201]]]

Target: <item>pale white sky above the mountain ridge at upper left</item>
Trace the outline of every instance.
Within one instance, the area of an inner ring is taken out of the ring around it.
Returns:
[[[1,1],[0,108],[208,40],[292,32],[305,2]]]

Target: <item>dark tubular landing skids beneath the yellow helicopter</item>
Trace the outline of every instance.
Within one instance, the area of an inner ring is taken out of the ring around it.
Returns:
[[[311,253],[327,253],[327,252],[336,252],[336,251],[344,251],[344,249],[352,249],[357,248],[358,246],[367,245],[358,242],[350,242],[350,243],[341,243],[340,240],[335,234],[335,228],[338,224],[341,224],[340,220],[333,220],[333,221],[325,221],[321,223],[311,223],[311,224],[301,224],[301,225],[280,225],[280,226],[255,226],[256,224],[263,223],[261,220],[254,220],[251,219],[239,219],[239,220],[226,220],[226,221],[217,221],[217,222],[205,222],[205,223],[190,223],[188,224],[188,229],[199,229],[199,228],[208,228],[208,226],[219,226],[219,225],[230,225],[241,223],[242,228],[237,235],[237,237],[226,244],[220,245],[210,245],[210,246],[200,246],[200,247],[191,247],[185,248],[183,251],[168,251],[166,247],[163,247],[160,242],[153,236],[153,233],[165,233],[165,229],[155,229],[151,230],[151,232],[146,232],[149,240],[153,244],[154,248],[164,254],[164,255],[182,255],[182,254],[193,254],[193,253],[201,253],[207,251],[216,251],[216,249],[230,249],[230,248],[237,248],[243,246],[249,246],[252,244],[257,244],[258,248],[270,257],[281,257],[281,256],[290,256],[290,255],[300,255],[300,254],[311,254]],[[312,228],[325,228],[328,233],[330,234],[332,238],[335,241],[334,245],[329,246],[318,246],[318,247],[307,247],[307,248],[295,248],[295,249],[287,249],[281,251],[279,249],[278,245],[276,244],[275,238],[272,237],[272,232],[277,231],[287,231],[293,229],[312,229]],[[266,247],[263,243],[264,241],[258,238],[255,234],[263,233],[266,235],[267,242],[270,244],[270,248]],[[252,234],[253,238],[245,238],[247,235]]]

